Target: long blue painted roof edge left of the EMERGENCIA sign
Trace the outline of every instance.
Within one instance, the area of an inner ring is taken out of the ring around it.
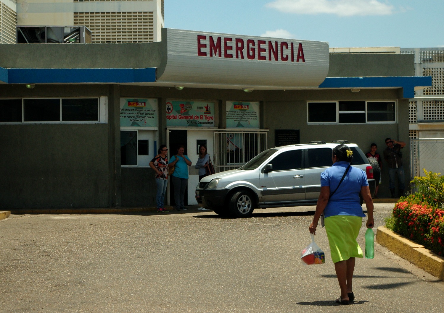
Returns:
[[[156,69],[149,68],[63,68],[63,69],[8,69],[9,84],[45,83],[131,83],[155,82]]]

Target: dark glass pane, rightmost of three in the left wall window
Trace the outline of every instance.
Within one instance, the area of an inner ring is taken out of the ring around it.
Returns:
[[[62,121],[99,121],[98,98],[62,99]]]

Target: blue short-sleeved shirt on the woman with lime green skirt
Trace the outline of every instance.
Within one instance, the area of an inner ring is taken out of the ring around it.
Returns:
[[[329,186],[330,193],[333,192],[341,181],[349,162],[340,161],[333,164],[321,173],[321,187]],[[359,193],[361,187],[368,186],[367,175],[360,168],[350,166],[341,186],[330,198],[325,207],[325,217],[334,215],[352,215],[364,217],[362,212]]]

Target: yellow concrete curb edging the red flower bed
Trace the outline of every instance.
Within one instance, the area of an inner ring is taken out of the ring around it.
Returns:
[[[401,258],[444,281],[444,258],[438,254],[384,226],[378,227],[376,241]]]

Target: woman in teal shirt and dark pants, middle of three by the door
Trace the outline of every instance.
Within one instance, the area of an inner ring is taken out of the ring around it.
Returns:
[[[171,174],[171,182],[174,185],[174,202],[176,203],[176,211],[188,210],[185,207],[184,198],[186,184],[188,183],[188,166],[191,165],[190,159],[183,154],[185,147],[179,145],[177,154],[170,158],[168,167],[174,166],[174,172]]]

